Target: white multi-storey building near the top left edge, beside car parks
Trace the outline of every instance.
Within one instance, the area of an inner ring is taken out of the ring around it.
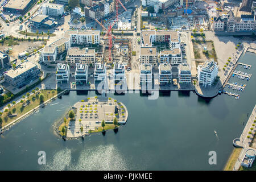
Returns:
[[[49,16],[62,16],[64,13],[64,6],[54,3],[44,3],[42,6],[43,14]]]

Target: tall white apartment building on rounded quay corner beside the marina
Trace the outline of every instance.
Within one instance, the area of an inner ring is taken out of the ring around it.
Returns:
[[[199,84],[211,86],[218,75],[218,65],[214,61],[205,61],[204,65],[197,67]]]

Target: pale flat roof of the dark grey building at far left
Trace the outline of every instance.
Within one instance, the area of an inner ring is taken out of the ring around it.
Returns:
[[[8,71],[6,71],[5,75],[10,76],[11,78],[15,78],[34,67],[37,67],[37,65],[27,60],[17,65],[15,69],[11,68]]]

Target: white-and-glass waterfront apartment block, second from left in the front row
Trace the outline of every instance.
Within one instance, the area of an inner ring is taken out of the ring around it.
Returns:
[[[77,63],[76,72],[75,72],[76,82],[84,82],[85,84],[88,81],[88,66],[86,64]]]

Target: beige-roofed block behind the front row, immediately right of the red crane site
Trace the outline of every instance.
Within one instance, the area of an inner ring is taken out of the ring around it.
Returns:
[[[141,64],[152,64],[154,67],[158,67],[156,47],[141,47],[140,55]]]

